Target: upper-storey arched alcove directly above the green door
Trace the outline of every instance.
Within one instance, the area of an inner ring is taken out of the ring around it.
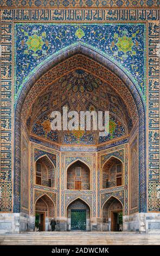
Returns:
[[[67,190],[90,190],[90,170],[88,166],[76,161],[67,169]]]

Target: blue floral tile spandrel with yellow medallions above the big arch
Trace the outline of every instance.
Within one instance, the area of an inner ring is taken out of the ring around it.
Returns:
[[[120,66],[146,93],[144,23],[17,23],[15,25],[15,100],[37,68],[61,50],[78,44],[93,48]]]

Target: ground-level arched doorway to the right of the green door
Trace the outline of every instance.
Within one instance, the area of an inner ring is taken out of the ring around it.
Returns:
[[[110,197],[103,206],[103,230],[123,230],[123,205],[115,197]]]

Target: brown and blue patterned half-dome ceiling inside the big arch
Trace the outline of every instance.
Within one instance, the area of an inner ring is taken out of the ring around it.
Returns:
[[[109,111],[110,133],[99,137],[98,131],[53,131],[52,111]],[[60,144],[98,144],[128,135],[133,120],[123,99],[108,83],[90,72],[77,68],[46,86],[37,96],[26,120],[28,130],[35,136]]]

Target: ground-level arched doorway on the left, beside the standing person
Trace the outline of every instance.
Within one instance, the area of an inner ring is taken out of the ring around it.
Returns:
[[[35,203],[35,230],[49,231],[50,220],[53,217],[55,217],[54,203],[44,194]]]

